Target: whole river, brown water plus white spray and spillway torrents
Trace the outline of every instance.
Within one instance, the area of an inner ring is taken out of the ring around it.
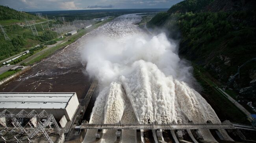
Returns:
[[[193,77],[178,57],[177,43],[164,33],[144,33],[135,25],[140,18],[126,14],[108,22],[34,65],[0,92],[76,92],[84,98],[91,78],[96,78],[90,123],[219,123],[211,106],[188,84]],[[87,130],[83,142],[95,141],[96,132]],[[209,130],[203,132],[215,141]],[[103,130],[99,142],[115,140],[116,130]],[[121,141],[136,142],[136,130],[123,130]]]

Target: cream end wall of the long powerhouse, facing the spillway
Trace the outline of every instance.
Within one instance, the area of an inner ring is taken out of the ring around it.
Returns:
[[[70,98],[68,105],[66,106],[66,113],[67,113],[67,120],[72,120],[74,114],[76,113],[76,110],[79,107],[79,101],[77,98],[76,93]]]

